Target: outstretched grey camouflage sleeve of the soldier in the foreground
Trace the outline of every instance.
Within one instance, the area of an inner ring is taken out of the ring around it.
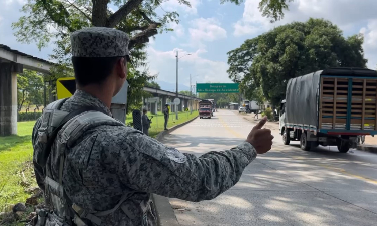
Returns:
[[[256,158],[256,150],[247,142],[197,157],[136,131],[122,140],[116,171],[126,186],[194,202],[211,200],[231,188]]]

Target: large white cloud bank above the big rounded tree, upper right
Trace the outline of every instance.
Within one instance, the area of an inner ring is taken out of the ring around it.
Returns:
[[[258,2],[246,0],[242,19],[234,26],[234,35],[259,35],[273,27],[291,23],[293,21],[306,21],[310,17],[324,18],[338,25],[344,31],[364,34],[364,52],[368,59],[367,67],[375,69],[377,64],[377,1],[375,0],[294,0],[285,12],[284,19],[270,23],[269,19],[262,17],[258,9]],[[364,27],[359,29],[360,24]],[[356,32],[355,32],[356,31]]]

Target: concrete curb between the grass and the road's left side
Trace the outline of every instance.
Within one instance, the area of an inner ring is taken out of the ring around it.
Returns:
[[[191,119],[187,122],[175,125],[175,126],[171,127],[169,130],[161,131],[159,134],[157,134],[155,139],[157,141],[161,141],[161,139],[166,134],[169,134],[170,132],[172,132],[172,131],[174,131],[174,130],[182,127],[182,126],[184,126],[188,123],[191,123],[192,121],[194,121],[198,117],[199,116],[197,116],[197,117],[195,117],[195,118],[193,118],[193,119]],[[179,226],[179,223],[178,223],[177,217],[175,216],[174,210],[173,210],[173,208],[171,208],[169,200],[166,197],[153,194],[152,195],[152,201],[154,203],[154,209],[155,209],[156,215],[157,215],[157,225],[159,225],[159,226],[162,226],[162,225]]]

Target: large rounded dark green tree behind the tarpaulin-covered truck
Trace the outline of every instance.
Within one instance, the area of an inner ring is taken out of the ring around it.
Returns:
[[[265,97],[276,105],[285,98],[290,78],[328,67],[365,67],[362,43],[361,35],[345,38],[327,20],[293,22],[228,52],[228,74],[250,100]]]

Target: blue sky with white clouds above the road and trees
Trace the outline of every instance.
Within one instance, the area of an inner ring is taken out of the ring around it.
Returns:
[[[239,6],[220,4],[219,0],[191,0],[192,7],[180,5],[176,0],[164,1],[160,15],[177,11],[180,23],[169,24],[173,32],[150,38],[147,48],[148,68],[158,74],[157,82],[175,83],[176,52],[178,57],[178,83],[189,90],[192,83],[231,82],[228,78],[227,52],[239,47],[246,39],[254,38],[273,27],[293,21],[306,21],[310,17],[324,18],[338,25],[344,36],[364,35],[364,52],[368,68],[377,65],[377,1],[375,0],[294,0],[284,19],[270,23],[258,9],[259,0],[246,0]],[[0,44],[48,60],[54,45],[38,51],[35,43],[18,43],[11,23],[23,16],[19,10],[26,0],[0,0]],[[116,10],[115,6],[110,6]],[[173,90],[170,90],[173,91]]]

